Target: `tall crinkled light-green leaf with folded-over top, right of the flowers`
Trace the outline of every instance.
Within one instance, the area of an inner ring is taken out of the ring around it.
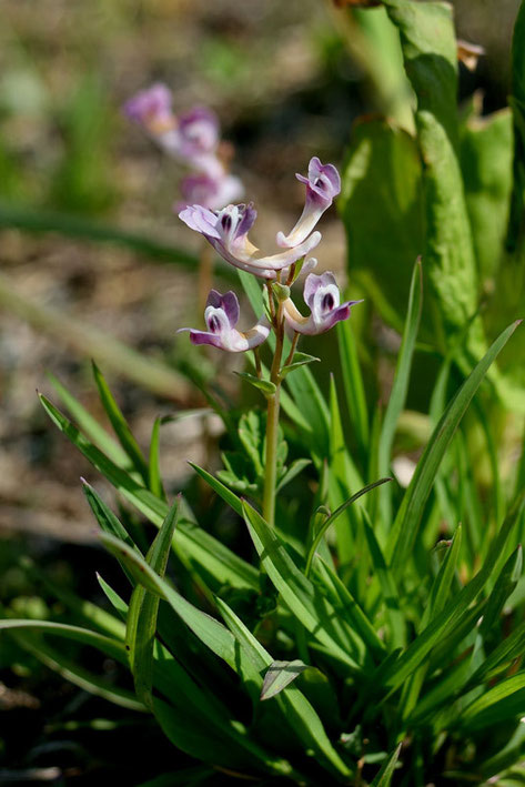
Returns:
[[[384,0],[400,31],[406,74],[417,99],[417,142],[424,168],[425,272],[436,297],[445,339],[477,307],[477,271],[458,162],[457,48],[452,7],[443,2]],[[432,84],[432,90],[428,89]],[[436,326],[437,329],[440,326]],[[483,352],[477,320],[470,353]]]

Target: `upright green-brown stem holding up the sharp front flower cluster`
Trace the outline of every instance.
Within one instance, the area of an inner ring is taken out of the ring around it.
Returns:
[[[272,294],[271,297],[273,297]],[[275,487],[277,482],[279,410],[281,394],[281,377],[279,373],[283,357],[283,306],[282,303],[280,303],[275,315],[275,354],[270,372],[270,380],[275,385],[275,393],[267,396],[266,462],[263,494],[263,517],[271,526],[275,524]]]

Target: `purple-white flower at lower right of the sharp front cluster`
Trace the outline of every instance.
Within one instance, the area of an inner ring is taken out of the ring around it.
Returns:
[[[341,304],[341,295],[333,273],[317,276],[311,273],[304,282],[304,302],[310,306],[310,316],[303,317],[293,301],[284,301],[286,327],[297,333],[314,335],[324,333],[341,320],[350,317],[351,307],[361,301],[346,301]]]

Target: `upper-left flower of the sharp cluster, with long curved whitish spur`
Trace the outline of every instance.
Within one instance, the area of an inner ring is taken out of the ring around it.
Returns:
[[[258,256],[259,249],[248,239],[256,218],[253,204],[228,205],[222,211],[211,211],[202,205],[191,205],[179,213],[189,228],[200,232],[216,252],[230,264],[262,279],[275,279],[276,272],[309,254],[321,241],[314,232],[304,243],[279,254]]]

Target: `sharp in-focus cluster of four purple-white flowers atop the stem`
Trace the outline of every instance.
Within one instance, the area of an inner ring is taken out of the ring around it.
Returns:
[[[266,280],[270,296],[269,317],[263,316],[254,327],[242,333],[235,327],[239,321],[235,293],[230,291],[221,295],[212,290],[204,312],[208,331],[181,329],[190,331],[193,344],[211,344],[229,352],[244,352],[262,344],[272,326],[276,332],[285,330],[292,337],[297,334],[320,334],[341,320],[346,320],[352,306],[360,303],[341,303],[335,278],[330,272],[321,275],[309,273],[305,279],[304,302],[310,309],[309,316],[303,316],[292,301],[290,285],[296,278],[299,266],[304,272],[316,265],[316,260],[307,256],[321,241],[321,233],[315,226],[341,191],[341,179],[335,167],[322,164],[315,157],[310,162],[307,178],[300,174],[296,178],[306,185],[304,210],[287,235],[277,233],[276,244],[281,251],[275,254],[262,254],[248,238],[258,215],[252,203],[229,204],[222,210],[193,204],[179,213],[180,219],[204,235],[226,262]],[[277,307],[273,302],[273,282],[284,285],[277,296]]]

